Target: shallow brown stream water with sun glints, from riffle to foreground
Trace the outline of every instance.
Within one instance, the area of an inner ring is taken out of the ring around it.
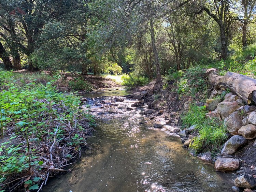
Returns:
[[[126,110],[133,102],[88,99],[99,122],[87,140],[89,149],[43,191],[231,191],[233,175],[216,173],[212,164],[191,157],[179,137],[153,129],[143,108]]]

